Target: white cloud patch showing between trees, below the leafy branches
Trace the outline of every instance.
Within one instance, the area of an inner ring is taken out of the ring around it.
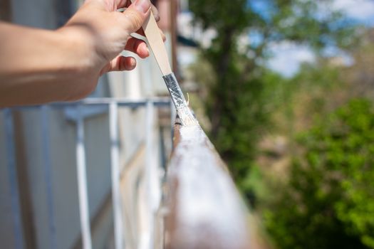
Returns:
[[[304,46],[298,46],[290,42],[276,43],[271,46],[271,52],[274,58],[269,60],[269,68],[286,77],[294,75],[300,63],[313,62],[313,52]]]

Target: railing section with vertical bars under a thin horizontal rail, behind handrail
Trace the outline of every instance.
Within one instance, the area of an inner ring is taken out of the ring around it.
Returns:
[[[99,112],[108,112],[110,127],[110,159],[111,159],[111,178],[112,178],[112,206],[113,206],[113,223],[115,248],[122,249],[124,246],[123,231],[123,208],[121,206],[120,196],[120,148],[118,136],[118,109],[128,107],[136,109],[144,107],[146,110],[145,127],[146,127],[146,174],[145,181],[150,185],[150,150],[152,150],[152,126],[153,111],[155,107],[171,107],[169,98],[149,98],[144,100],[125,100],[115,98],[95,98],[85,99],[80,102],[54,103],[51,105],[31,106],[31,107],[14,107],[2,110],[4,115],[4,129],[6,134],[6,161],[7,170],[9,172],[9,183],[11,189],[11,211],[14,221],[15,247],[26,248],[24,243],[24,228],[22,225],[21,204],[19,197],[19,182],[17,179],[16,167],[16,146],[14,132],[14,110],[40,110],[41,113],[41,129],[43,143],[43,171],[46,181],[46,196],[48,205],[48,228],[50,233],[51,248],[56,248],[56,223],[54,221],[53,207],[53,189],[51,183],[51,155],[48,137],[48,115],[53,109],[63,109],[75,112],[73,119],[76,119],[76,167],[78,177],[78,198],[79,198],[79,215],[80,215],[80,231],[81,243],[85,249],[93,248],[91,238],[91,226],[88,207],[88,189],[86,174],[86,156],[85,156],[85,129],[84,129],[84,110],[90,110],[92,107],[100,108]],[[97,111],[97,110],[96,110]],[[151,194],[150,186],[147,188],[148,195]],[[148,196],[152,198],[152,196]],[[151,203],[152,201],[150,201]],[[152,226],[150,226],[152,228]],[[150,235],[152,237],[152,235]],[[152,242],[151,242],[152,243]]]

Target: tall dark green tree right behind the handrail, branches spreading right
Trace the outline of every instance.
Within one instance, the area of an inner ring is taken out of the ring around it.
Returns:
[[[209,135],[242,188],[256,157],[256,144],[269,125],[269,102],[274,97],[269,88],[274,82],[264,77],[264,61],[271,44],[292,41],[321,51],[353,41],[353,28],[341,14],[328,11],[330,2],[189,1],[194,21],[217,32],[212,46],[202,49],[216,79],[209,85],[206,102],[212,124]],[[249,35],[257,41],[239,43],[239,38]]]

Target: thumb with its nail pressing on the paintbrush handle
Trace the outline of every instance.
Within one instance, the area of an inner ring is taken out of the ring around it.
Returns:
[[[125,31],[130,34],[139,30],[150,15],[150,7],[150,0],[133,1],[133,4],[123,11]]]

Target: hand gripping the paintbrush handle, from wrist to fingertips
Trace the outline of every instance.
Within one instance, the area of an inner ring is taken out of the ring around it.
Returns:
[[[123,13],[117,11],[126,8]],[[142,33],[142,24],[154,14],[160,19],[155,6],[149,0],[87,0],[71,18],[61,32],[80,36],[92,46],[90,60],[98,75],[110,71],[133,70],[136,60],[120,53],[125,49],[146,58],[150,53],[144,41],[131,37],[131,33]],[[160,31],[162,33],[162,31]],[[165,36],[162,33],[165,40]]]

